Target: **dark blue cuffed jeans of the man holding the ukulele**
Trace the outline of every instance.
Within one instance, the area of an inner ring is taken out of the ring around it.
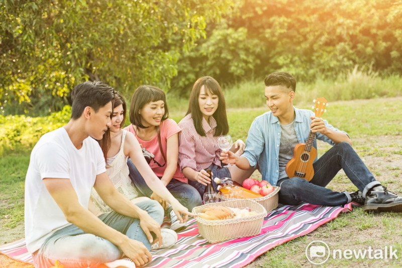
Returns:
[[[297,205],[306,202],[324,206],[350,203],[348,193],[325,188],[341,168],[349,180],[362,191],[363,197],[372,187],[380,185],[347,142],[333,146],[313,164],[313,167],[314,176],[310,182],[299,177],[285,177],[278,181],[276,185],[280,186],[279,203]]]

